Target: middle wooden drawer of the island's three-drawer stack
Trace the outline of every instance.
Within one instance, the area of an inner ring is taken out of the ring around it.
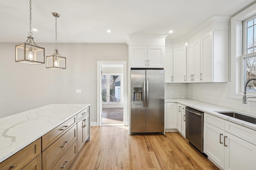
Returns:
[[[76,141],[76,125],[69,129],[57,141],[43,152],[43,170],[50,170],[60,160],[63,154]]]

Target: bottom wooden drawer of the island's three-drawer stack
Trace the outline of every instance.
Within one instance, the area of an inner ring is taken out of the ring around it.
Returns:
[[[68,151],[60,158],[52,170],[67,170],[76,157],[76,142],[68,149]]]

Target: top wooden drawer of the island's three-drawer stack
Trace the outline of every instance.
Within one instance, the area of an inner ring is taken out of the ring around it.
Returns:
[[[54,143],[54,141],[56,141],[61,135],[63,135],[75,124],[76,115],[42,136],[42,151],[44,151],[47,147]]]

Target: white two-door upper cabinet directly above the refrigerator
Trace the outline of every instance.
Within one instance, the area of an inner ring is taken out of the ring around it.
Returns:
[[[130,68],[164,68],[167,35],[128,35]]]

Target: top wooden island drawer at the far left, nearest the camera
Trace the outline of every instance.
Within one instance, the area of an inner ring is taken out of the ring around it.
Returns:
[[[37,139],[30,145],[26,146],[24,149],[6,159],[4,162],[0,163],[0,169],[10,170],[13,166],[15,166],[15,170],[22,169],[40,153],[41,138]]]

